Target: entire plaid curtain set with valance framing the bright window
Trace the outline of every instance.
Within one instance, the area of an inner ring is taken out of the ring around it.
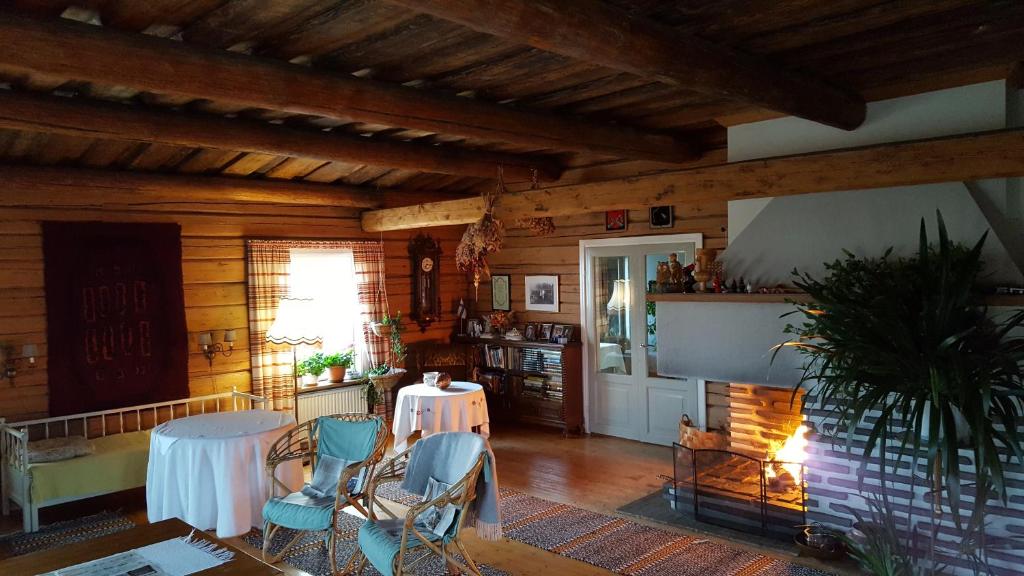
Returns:
[[[246,244],[253,394],[270,399],[274,410],[292,408],[295,382],[292,347],[267,342],[266,331],[273,324],[279,300],[289,295],[290,251],[294,248],[352,251],[362,335],[371,357],[369,365],[387,362],[390,354],[387,339],[375,335],[370,328],[370,323],[380,320],[387,311],[382,284],[384,247],[380,242],[248,240]]]

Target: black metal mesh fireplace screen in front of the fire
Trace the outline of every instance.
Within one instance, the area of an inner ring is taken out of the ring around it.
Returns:
[[[673,507],[697,521],[790,539],[805,524],[804,465],[674,444]]]

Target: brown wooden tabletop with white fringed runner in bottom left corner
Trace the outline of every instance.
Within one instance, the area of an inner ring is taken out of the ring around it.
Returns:
[[[67,568],[82,564],[83,562],[98,560],[118,552],[125,552],[148,544],[170,540],[177,536],[185,536],[191,530],[191,526],[177,519],[136,526],[131,530],[125,530],[124,532],[118,532],[117,534],[102,536],[93,540],[69,544],[59,548],[40,550],[2,561],[0,562],[0,574],[4,576],[35,576],[36,574],[52,572],[59,568]],[[200,532],[200,534],[211,542],[230,548],[234,552],[234,559],[216,568],[197,572],[197,574],[208,576],[215,574],[223,576],[270,576],[282,573],[276,568],[254,559],[234,546],[225,543],[223,540],[218,540],[203,532]]]

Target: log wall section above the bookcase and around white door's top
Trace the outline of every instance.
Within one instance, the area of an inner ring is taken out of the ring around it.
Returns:
[[[580,241],[596,238],[649,236],[662,234],[700,233],[708,248],[724,249],[728,236],[727,203],[725,201],[675,206],[676,223],[670,229],[651,229],[647,211],[631,210],[630,222],[624,232],[604,230],[604,213],[585,213],[555,218],[555,233],[547,237],[531,236],[515,222],[506,222],[504,249],[490,257],[493,274],[511,275],[512,310],[517,324],[553,322],[580,324]],[[525,311],[525,277],[527,275],[558,275],[558,312]],[[469,285],[470,299],[473,286]],[[490,284],[480,283],[478,314],[490,311]]]

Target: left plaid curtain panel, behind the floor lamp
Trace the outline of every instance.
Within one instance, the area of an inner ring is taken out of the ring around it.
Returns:
[[[269,400],[274,410],[291,409],[295,386],[292,346],[266,341],[266,331],[278,314],[278,302],[288,295],[292,246],[248,240],[246,247],[253,394]]]

